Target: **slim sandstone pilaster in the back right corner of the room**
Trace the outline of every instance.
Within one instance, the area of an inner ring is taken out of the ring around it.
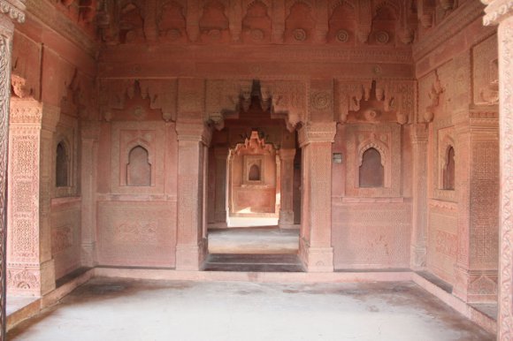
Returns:
[[[425,267],[427,236],[427,137],[425,124],[412,126],[413,144],[413,230],[411,231],[411,269]]]

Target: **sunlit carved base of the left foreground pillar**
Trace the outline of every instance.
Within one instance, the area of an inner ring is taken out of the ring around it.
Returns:
[[[7,293],[42,296],[55,289],[55,264],[45,261],[41,266],[8,266]]]

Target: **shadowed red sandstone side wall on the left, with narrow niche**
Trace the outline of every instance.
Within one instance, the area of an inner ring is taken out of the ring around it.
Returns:
[[[54,7],[57,6],[57,7]],[[76,5],[45,1],[27,5],[12,46],[13,97],[42,103],[40,231],[41,262],[53,259],[52,282],[81,266],[80,119],[96,116],[93,26]],[[80,18],[79,18],[80,17]],[[56,186],[56,148],[65,141],[66,186]],[[16,180],[14,180],[16,181]],[[47,230],[48,229],[48,230]]]

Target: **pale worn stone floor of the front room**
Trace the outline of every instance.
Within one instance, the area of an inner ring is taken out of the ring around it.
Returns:
[[[494,340],[410,282],[258,284],[95,278],[11,340]]]

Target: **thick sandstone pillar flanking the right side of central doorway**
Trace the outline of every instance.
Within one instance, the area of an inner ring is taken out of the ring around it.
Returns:
[[[309,122],[299,131],[303,171],[299,254],[309,272],[333,271],[332,143],[335,133],[334,122]]]

